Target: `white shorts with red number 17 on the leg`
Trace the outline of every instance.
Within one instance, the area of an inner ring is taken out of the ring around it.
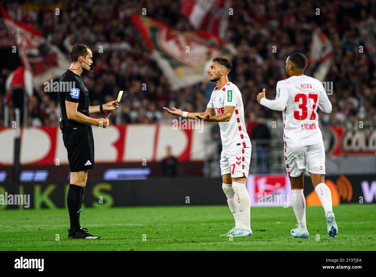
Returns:
[[[248,178],[252,148],[239,148],[221,152],[221,175],[231,174],[232,178]]]

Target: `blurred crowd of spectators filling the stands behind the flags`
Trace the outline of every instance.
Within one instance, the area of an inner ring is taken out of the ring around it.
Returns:
[[[67,56],[75,43],[86,44],[93,50],[95,72],[92,78],[90,74],[83,75],[90,105],[116,99],[118,91],[124,90],[121,122],[117,123],[170,122],[170,115],[162,110],[164,106],[205,111],[208,83],[172,91],[130,20],[146,8],[149,17],[182,31],[193,30],[180,12],[179,1],[69,0],[62,3],[59,22],[53,28],[41,24],[37,28]],[[320,113],[321,122],[376,120],[376,70],[367,51],[359,53],[363,41],[358,31],[359,22],[375,17],[374,2],[233,0],[232,7],[226,40],[235,46],[237,55],[232,59],[229,79],[243,95],[246,120],[281,118],[280,112],[258,105],[256,95],[265,87],[267,97],[274,98],[277,81],[286,78],[288,54],[301,52],[309,56],[312,30],[317,27],[332,41],[334,49],[326,78],[333,82],[333,94],[329,98],[333,111],[330,115]],[[320,8],[320,15],[315,14],[316,8]],[[103,53],[96,51],[99,46],[103,46]],[[272,52],[273,46],[277,47],[276,53]],[[10,70],[2,70],[2,87],[9,73]],[[142,90],[143,84],[147,85],[146,90]],[[9,99],[9,91],[2,91],[3,103]],[[1,110],[3,120],[4,109]],[[92,116],[100,117],[100,114]],[[59,117],[57,94],[35,87],[28,100],[27,125],[58,125]]]

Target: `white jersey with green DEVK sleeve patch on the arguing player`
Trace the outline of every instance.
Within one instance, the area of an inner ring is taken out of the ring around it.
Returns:
[[[208,108],[214,109],[215,115],[224,113],[224,106],[234,106],[235,110],[228,122],[218,122],[221,129],[222,149],[249,148],[251,141],[244,122],[244,106],[240,90],[232,82],[223,88],[215,87],[208,103]]]

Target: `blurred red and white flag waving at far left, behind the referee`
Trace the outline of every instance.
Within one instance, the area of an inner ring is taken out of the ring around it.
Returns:
[[[33,85],[61,76],[70,66],[69,60],[42,33],[23,23],[16,23],[0,5],[4,22],[15,39],[16,50],[24,67],[33,74]]]

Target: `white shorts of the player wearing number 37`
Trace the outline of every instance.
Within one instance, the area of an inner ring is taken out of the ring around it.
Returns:
[[[285,147],[284,154],[288,176],[298,177],[306,168],[309,173],[325,174],[324,144]]]

